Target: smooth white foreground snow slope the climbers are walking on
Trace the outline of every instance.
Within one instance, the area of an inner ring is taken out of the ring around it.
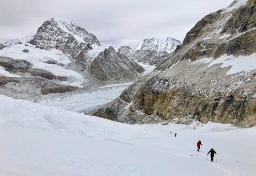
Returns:
[[[255,176],[256,127],[128,125],[0,100],[1,176]],[[210,148],[217,162],[207,158]]]

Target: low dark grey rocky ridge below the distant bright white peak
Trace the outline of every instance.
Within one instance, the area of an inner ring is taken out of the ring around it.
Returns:
[[[129,46],[121,46],[118,53],[125,54],[129,58],[144,64],[158,66],[163,60],[170,57],[173,53],[156,52],[149,50],[132,50]]]

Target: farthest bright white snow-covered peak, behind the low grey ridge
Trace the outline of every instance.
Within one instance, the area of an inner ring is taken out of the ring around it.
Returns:
[[[135,51],[149,50],[155,52],[173,53],[178,45],[181,45],[181,42],[172,37],[161,39],[154,37],[141,40],[135,48]]]

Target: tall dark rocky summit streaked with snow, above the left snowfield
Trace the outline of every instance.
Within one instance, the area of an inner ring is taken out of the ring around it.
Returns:
[[[88,43],[100,46],[96,36],[70,20],[51,18],[45,21],[30,41],[40,49],[55,48],[63,53],[77,55]]]

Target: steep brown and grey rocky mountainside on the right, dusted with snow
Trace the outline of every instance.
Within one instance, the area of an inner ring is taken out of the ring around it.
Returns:
[[[124,123],[256,126],[256,1],[201,19],[175,53],[94,114]]]

